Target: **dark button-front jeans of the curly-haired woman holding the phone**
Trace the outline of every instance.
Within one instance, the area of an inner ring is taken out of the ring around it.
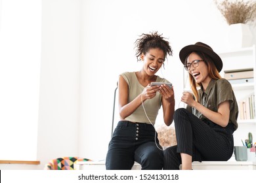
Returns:
[[[163,169],[161,149],[151,124],[120,121],[108,146],[106,169],[130,170],[134,161],[140,163],[142,169]]]

